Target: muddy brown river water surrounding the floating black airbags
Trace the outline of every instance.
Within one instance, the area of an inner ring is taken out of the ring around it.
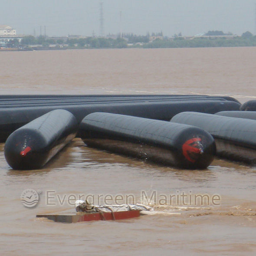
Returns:
[[[256,47],[2,52],[0,59],[1,94],[256,99]],[[88,148],[76,138],[42,170],[13,171],[3,148],[0,144],[1,255],[256,252],[256,167],[216,158],[207,170],[178,170]],[[21,203],[26,189],[39,192],[36,207]],[[85,196],[95,203],[152,197],[156,210],[181,214],[75,224],[36,219],[36,214],[75,213],[72,199]]]

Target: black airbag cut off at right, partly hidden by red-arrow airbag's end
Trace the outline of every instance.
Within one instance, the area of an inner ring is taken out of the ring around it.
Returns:
[[[208,131],[213,135],[217,154],[221,157],[256,164],[256,120],[183,112],[171,121]]]

